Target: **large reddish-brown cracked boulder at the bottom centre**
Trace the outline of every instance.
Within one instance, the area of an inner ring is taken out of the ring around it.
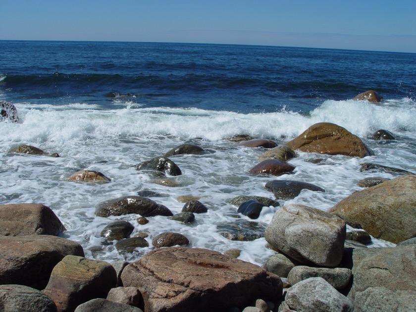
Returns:
[[[200,248],[154,250],[127,265],[121,278],[125,287],[139,288],[145,312],[228,311],[252,300],[276,302],[282,296],[277,275]]]

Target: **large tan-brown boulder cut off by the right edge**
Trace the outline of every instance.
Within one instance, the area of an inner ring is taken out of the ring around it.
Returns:
[[[416,176],[401,176],[351,194],[329,212],[395,244],[416,236]]]

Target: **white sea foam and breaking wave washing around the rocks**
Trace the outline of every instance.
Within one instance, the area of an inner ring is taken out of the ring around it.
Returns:
[[[66,237],[78,241],[87,256],[119,260],[113,245],[102,246],[100,231],[110,221],[123,219],[135,226],[135,232],[146,231],[148,241],[161,231],[186,235],[191,246],[224,252],[242,250],[240,259],[262,264],[272,252],[264,249],[265,240],[230,241],[216,231],[221,222],[234,221],[236,207],[227,201],[239,195],[273,198],[264,185],[272,179],[293,179],[316,184],[325,193],[304,190],[297,198],[281,204],[304,204],[327,210],[355,191],[357,181],[368,176],[391,178],[389,173],[363,173],[362,163],[371,161],[416,172],[416,105],[410,99],[369,104],[361,101],[325,101],[310,115],[290,111],[241,114],[208,111],[198,108],[141,108],[99,110],[89,104],[64,106],[16,104],[21,123],[0,122],[0,204],[43,203],[51,207],[65,224]],[[299,135],[316,122],[333,122],[362,137],[375,156],[363,159],[299,153],[290,160],[296,165],[291,175],[262,177],[248,174],[258,163],[262,149],[242,148],[225,140],[236,134],[274,138],[279,143]],[[379,142],[367,139],[377,129],[391,131],[400,139]],[[172,177],[180,187],[150,183],[147,174],[132,166],[155,156],[162,156],[184,142],[193,142],[208,154],[172,156],[183,175]],[[17,156],[7,151],[15,145],[30,144],[61,157]],[[316,163],[316,158],[320,161]],[[314,159],[314,162],[311,160]],[[78,169],[103,172],[112,182],[104,185],[66,182]],[[193,225],[183,225],[165,217],[153,217],[139,225],[136,215],[102,218],[94,214],[95,206],[107,199],[135,195],[150,189],[164,195],[153,198],[172,212],[180,212],[180,195],[201,197],[208,208],[196,216]],[[258,221],[267,224],[278,208],[264,208]],[[249,220],[242,216],[243,219]],[[374,240],[375,246],[391,244]],[[102,246],[102,251],[93,247]],[[152,245],[151,245],[152,247]],[[124,256],[135,260],[150,248]]]

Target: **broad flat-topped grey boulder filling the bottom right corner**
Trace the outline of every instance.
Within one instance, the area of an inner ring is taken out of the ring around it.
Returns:
[[[354,249],[347,297],[358,312],[416,311],[416,246]]]

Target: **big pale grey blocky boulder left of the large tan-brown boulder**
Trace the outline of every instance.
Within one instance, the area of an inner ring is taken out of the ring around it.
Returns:
[[[301,263],[337,266],[344,253],[346,224],[334,214],[304,205],[278,209],[265,231],[266,241]]]

